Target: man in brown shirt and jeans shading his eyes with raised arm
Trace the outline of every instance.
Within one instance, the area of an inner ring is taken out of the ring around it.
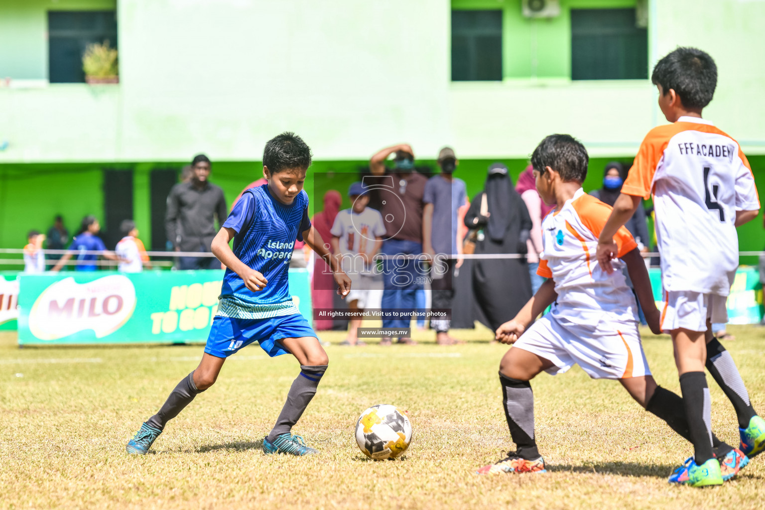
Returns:
[[[392,171],[386,169],[385,161],[396,154]],[[415,293],[422,288],[427,275],[422,260],[422,212],[425,203],[425,183],[428,178],[415,172],[415,153],[407,144],[384,148],[369,160],[369,170],[382,180],[382,219],[386,225],[386,237],[382,241],[382,309],[414,310]],[[387,182],[386,182],[387,181]],[[392,187],[390,187],[392,185]],[[403,261],[392,257],[403,255]],[[411,320],[383,316],[382,327],[409,328]],[[380,345],[390,345],[390,338],[383,338]],[[415,343],[408,336],[399,336],[399,343]]]

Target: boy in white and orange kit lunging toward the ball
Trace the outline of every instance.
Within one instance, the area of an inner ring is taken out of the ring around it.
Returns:
[[[656,385],[648,368],[637,330],[635,294],[622,271],[604,271],[595,258],[597,238],[611,208],[581,188],[587,176],[587,151],[569,135],[550,135],[535,148],[531,161],[539,196],[555,204],[542,220],[538,274],[548,279],[513,320],[496,330],[496,339],[514,344],[500,363],[500,383],[517,449],[478,473],[545,471],[534,440],[529,381],[542,371],[555,375],[573,365],[591,378],[617,379],[643,408],[690,440],[682,398]],[[646,320],[658,333],[659,310],[637,244],[624,227],[614,239],[618,258],[614,265],[627,266]],[[529,327],[548,306],[549,313]],[[717,437],[713,441],[724,476],[734,476],[746,456]]]

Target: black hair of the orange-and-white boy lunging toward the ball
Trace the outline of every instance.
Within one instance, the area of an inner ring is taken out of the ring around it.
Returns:
[[[535,171],[545,174],[545,167],[550,167],[561,174],[565,182],[584,182],[589,161],[587,149],[581,145],[581,141],[571,135],[546,136],[531,155],[531,164]]]

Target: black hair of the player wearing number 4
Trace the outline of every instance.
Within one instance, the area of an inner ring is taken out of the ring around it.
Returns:
[[[653,67],[651,81],[662,86],[662,93],[675,89],[682,106],[702,109],[715,96],[717,65],[698,48],[678,47]]]

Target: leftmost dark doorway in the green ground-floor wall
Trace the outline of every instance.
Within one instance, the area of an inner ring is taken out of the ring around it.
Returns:
[[[123,219],[133,219],[133,171],[103,171],[103,210],[105,218],[101,239],[106,248],[113,250],[122,232],[119,224]]]

